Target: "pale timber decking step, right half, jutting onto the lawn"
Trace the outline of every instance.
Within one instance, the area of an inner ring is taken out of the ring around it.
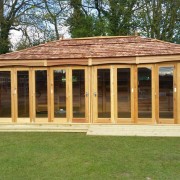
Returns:
[[[180,125],[90,125],[87,135],[180,137]]]

